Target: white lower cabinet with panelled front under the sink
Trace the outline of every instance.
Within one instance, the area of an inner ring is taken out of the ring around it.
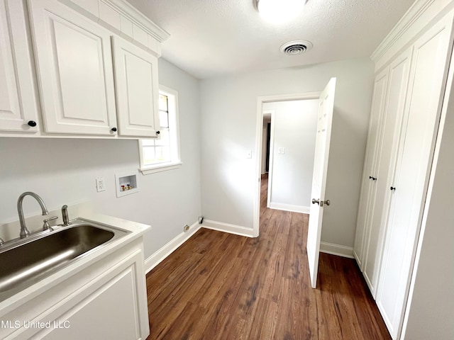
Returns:
[[[146,339],[142,240],[137,239],[1,316],[1,339]],[[9,323],[8,323],[9,322]]]

